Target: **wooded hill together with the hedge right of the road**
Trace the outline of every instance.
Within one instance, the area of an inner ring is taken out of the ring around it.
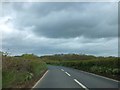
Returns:
[[[62,65],[120,80],[120,58],[62,54],[41,57],[47,64]]]

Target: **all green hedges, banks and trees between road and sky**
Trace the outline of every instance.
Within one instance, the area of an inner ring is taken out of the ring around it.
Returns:
[[[118,57],[78,54],[38,57],[34,54],[9,56],[7,53],[2,53],[3,88],[30,88],[47,70],[47,64],[67,66],[120,80],[120,60]]]

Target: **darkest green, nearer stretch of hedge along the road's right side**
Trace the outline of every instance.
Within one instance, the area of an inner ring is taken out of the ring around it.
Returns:
[[[120,69],[117,60],[90,60],[81,62],[61,62],[60,65],[87,71],[120,81]]]

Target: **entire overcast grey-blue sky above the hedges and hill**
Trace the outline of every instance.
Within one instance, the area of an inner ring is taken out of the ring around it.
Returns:
[[[118,56],[115,2],[6,2],[2,48],[11,55],[61,53]]]

